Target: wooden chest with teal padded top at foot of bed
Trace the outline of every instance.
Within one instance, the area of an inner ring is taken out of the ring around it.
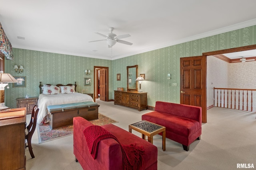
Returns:
[[[80,103],[72,104],[72,106],[70,106],[70,104],[48,106],[47,109],[49,113],[50,127],[52,129],[56,129],[59,127],[73,125],[73,117],[78,116],[84,117],[84,119],[88,121],[98,119],[98,107],[100,105],[94,102],[83,103],[86,104],[84,106],[77,106],[78,108],[74,107],[76,107],[76,105],[79,105]],[[60,106],[60,109],[57,109],[58,106]]]

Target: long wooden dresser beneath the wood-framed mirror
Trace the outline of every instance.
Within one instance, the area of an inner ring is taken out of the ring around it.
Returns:
[[[114,90],[115,101],[114,104],[132,107],[141,111],[148,108],[148,93],[129,92],[129,91],[117,91]]]

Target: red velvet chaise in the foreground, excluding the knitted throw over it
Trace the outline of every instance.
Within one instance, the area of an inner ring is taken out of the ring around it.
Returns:
[[[114,135],[120,144],[112,138],[103,139],[98,145],[96,159],[92,158],[84,136],[84,129],[93,124],[82,117],[74,117],[74,155],[84,170],[123,170],[120,144],[143,146],[142,166],[140,170],[157,170],[157,147],[144,139],[121,129],[113,124],[103,125],[104,129]]]

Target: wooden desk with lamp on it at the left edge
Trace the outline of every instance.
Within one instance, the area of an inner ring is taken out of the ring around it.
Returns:
[[[0,170],[26,170],[26,108],[0,112]]]

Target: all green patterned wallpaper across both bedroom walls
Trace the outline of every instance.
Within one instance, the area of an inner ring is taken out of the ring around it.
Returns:
[[[12,68],[15,64],[22,64],[25,71],[20,75],[26,76],[27,85],[26,88],[11,87],[5,90],[6,106],[16,107],[16,98],[25,97],[26,94],[38,96],[40,81],[50,84],[76,81],[78,92],[82,88],[93,92],[93,86],[83,86],[83,78],[89,77],[85,76],[84,70],[93,70],[94,66],[109,67],[109,98],[114,99],[113,90],[118,87],[126,89],[126,66],[136,64],[138,74],[145,74],[146,81],[142,82],[141,89],[148,92],[148,106],[155,106],[158,100],[179,103],[180,57],[253,44],[256,44],[256,25],[113,61],[14,49],[14,60],[5,62],[5,72],[18,76]],[[119,73],[121,81],[116,80]],[[167,79],[167,74],[172,74],[171,80]],[[177,86],[172,86],[173,83],[177,83]]]

